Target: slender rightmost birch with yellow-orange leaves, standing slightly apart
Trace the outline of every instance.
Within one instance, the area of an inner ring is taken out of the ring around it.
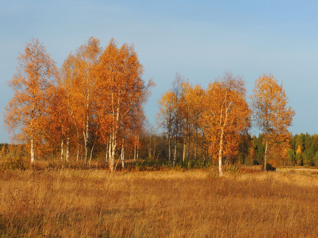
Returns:
[[[266,75],[255,80],[252,100],[253,117],[257,127],[265,137],[264,171],[266,171],[268,150],[281,144],[288,148],[291,134],[288,127],[292,125],[295,111],[287,107],[288,97],[274,76]]]

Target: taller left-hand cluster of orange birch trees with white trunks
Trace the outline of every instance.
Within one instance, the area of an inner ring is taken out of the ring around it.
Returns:
[[[111,39],[103,49],[91,37],[57,69],[43,44],[32,39],[8,83],[14,96],[4,122],[16,143],[30,146],[31,163],[48,150],[69,161],[72,145],[74,157],[89,165],[98,143],[104,145],[113,171],[118,141],[122,161],[126,140],[138,147],[142,105],[155,85],[152,80],[145,83],[142,73],[133,44],[118,47]]]

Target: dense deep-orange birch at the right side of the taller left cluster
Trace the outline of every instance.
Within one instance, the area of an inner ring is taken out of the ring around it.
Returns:
[[[98,100],[103,115],[109,118],[111,171],[114,171],[114,159],[117,140],[124,124],[130,123],[131,115],[136,115],[154,86],[152,80],[148,84],[142,80],[143,66],[138,60],[134,45],[123,44],[120,48],[111,39],[100,56],[96,67],[98,75]],[[129,126],[129,125],[126,125]]]

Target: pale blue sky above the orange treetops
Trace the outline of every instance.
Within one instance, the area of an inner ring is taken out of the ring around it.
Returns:
[[[18,51],[32,37],[58,66],[90,36],[103,46],[114,37],[135,43],[144,79],[157,84],[145,107],[153,124],[176,71],[205,88],[230,69],[245,76],[249,94],[263,73],[283,81],[296,112],[290,130],[318,133],[317,13],[317,1],[2,1],[0,110],[13,96],[5,82]],[[0,142],[9,142],[2,127]]]

